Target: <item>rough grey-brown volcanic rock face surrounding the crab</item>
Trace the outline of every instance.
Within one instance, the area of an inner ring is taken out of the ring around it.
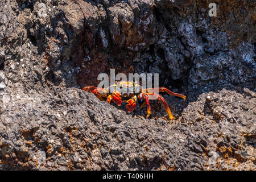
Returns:
[[[255,3],[209,3],[1,1],[0,169],[255,170]],[[170,122],[81,91],[112,68],[187,101]]]

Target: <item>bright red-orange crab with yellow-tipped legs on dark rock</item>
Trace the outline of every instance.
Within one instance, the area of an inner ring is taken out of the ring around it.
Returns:
[[[130,81],[115,82],[114,85],[110,85],[106,89],[98,88],[96,86],[85,86],[82,90],[93,93],[101,101],[105,101],[104,98],[106,98],[106,101],[108,101],[109,104],[111,101],[113,101],[118,106],[121,106],[122,101],[126,101],[128,113],[131,113],[135,109],[137,98],[141,100],[145,100],[141,105],[140,109],[144,105],[146,105],[147,107],[146,118],[148,118],[151,114],[151,107],[150,107],[149,100],[161,101],[164,106],[164,109],[166,109],[166,112],[169,118],[171,120],[174,118],[172,116],[172,112],[167,102],[164,100],[162,96],[158,94],[158,92],[166,92],[171,96],[181,97],[183,98],[184,101],[186,99],[186,97],[183,94],[171,92],[171,90],[168,90],[167,88],[164,88],[164,87],[143,89],[141,85],[137,84],[136,82],[130,82]]]

